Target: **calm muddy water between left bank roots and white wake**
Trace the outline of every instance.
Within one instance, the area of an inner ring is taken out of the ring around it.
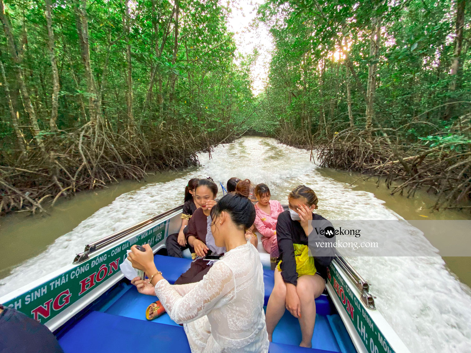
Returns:
[[[178,172],[149,172],[142,181],[121,180],[104,188],[85,190],[73,197],[59,199],[54,207],[46,205],[48,215],[20,212],[0,217],[0,241],[3,248],[0,278],[6,277],[15,266],[45,251],[57,238],[71,232],[83,220],[111,204],[122,194],[134,192],[149,184],[165,183],[177,176],[184,177],[191,170],[194,168]],[[97,234],[97,237],[100,235]],[[84,246],[85,243],[82,247]],[[19,248],[21,251],[18,251]],[[80,250],[83,249],[77,248],[77,251]]]

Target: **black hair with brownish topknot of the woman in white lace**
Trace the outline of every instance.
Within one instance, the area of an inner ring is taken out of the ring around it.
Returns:
[[[213,222],[222,211],[225,211],[237,227],[242,228],[244,232],[249,229],[255,221],[255,207],[248,198],[249,192],[250,180],[239,181],[235,187],[235,192],[227,193],[211,209]]]

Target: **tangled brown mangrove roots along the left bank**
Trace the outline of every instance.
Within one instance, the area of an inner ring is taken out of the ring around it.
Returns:
[[[82,143],[82,135],[78,141],[74,134],[67,135],[71,136],[65,136],[59,145],[54,136],[45,141],[49,155],[41,157],[36,151],[17,160],[0,158],[0,216],[24,211],[47,214],[47,209],[58,200],[77,193],[107,188],[125,180],[142,182],[148,173],[155,171],[194,168],[199,165],[198,153],[211,155],[222,139],[220,134],[208,139],[188,130],[184,138],[184,134],[163,140],[162,136],[160,140],[154,136],[152,140],[125,140],[118,146],[111,144],[113,138],[109,135],[101,135],[98,145],[103,139],[103,148],[98,148],[91,138]],[[229,136],[226,143],[234,141],[236,135]]]

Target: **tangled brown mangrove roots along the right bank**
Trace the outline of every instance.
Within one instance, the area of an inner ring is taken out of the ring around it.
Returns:
[[[434,209],[459,209],[471,215],[469,117],[460,117],[447,130],[427,138],[388,136],[383,128],[374,133],[368,136],[363,129],[348,128],[330,138],[312,137],[310,145],[289,134],[276,138],[310,150],[321,167],[379,177],[391,194],[413,197],[426,190],[435,195]]]

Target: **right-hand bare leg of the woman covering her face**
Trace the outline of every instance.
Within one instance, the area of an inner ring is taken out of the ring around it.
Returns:
[[[298,278],[296,292],[301,304],[301,317],[298,319],[302,336],[301,347],[312,347],[312,334],[316,322],[316,302],[314,299],[322,294],[324,287],[325,281],[318,274],[314,276],[307,274]]]

